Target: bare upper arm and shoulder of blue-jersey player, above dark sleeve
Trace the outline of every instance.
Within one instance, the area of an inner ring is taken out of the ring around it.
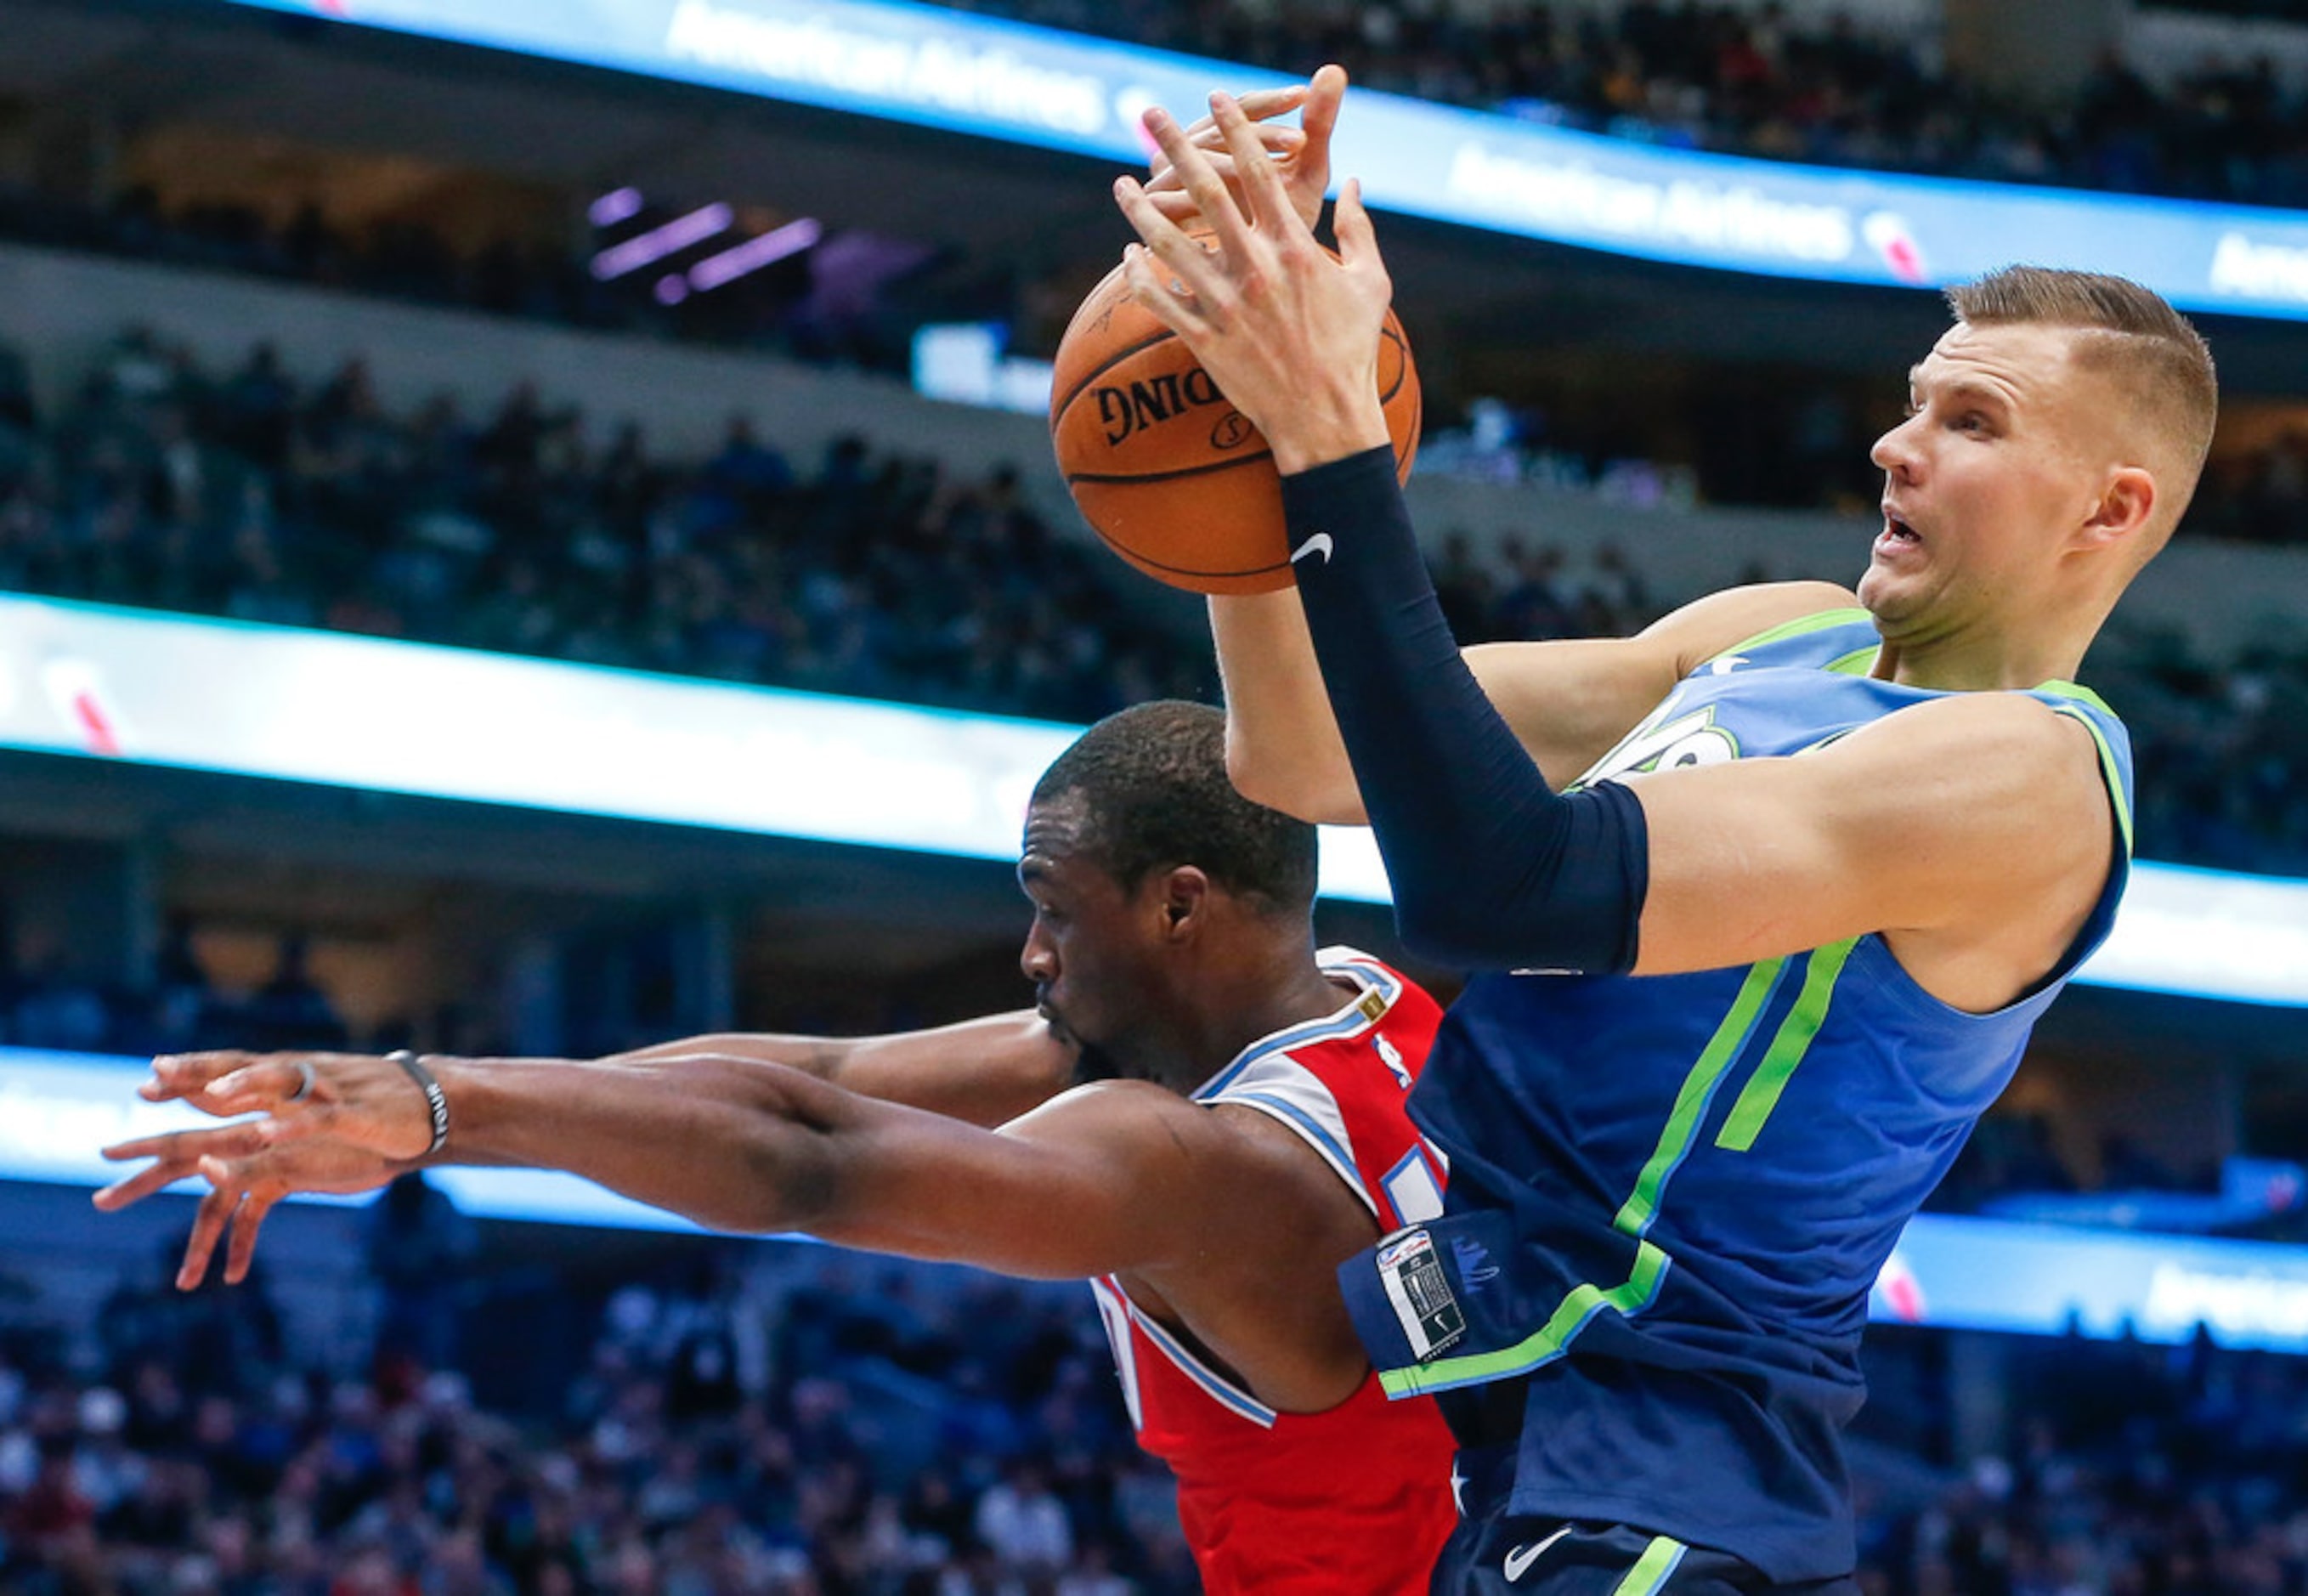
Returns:
[[[1902,709],[1812,755],[1632,776],[1650,834],[1636,975],[1881,931],[1985,1012],[2040,982],[2107,882],[2089,730],[2019,693]]]

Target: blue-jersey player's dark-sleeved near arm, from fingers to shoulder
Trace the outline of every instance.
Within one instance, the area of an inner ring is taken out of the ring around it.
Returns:
[[[1392,284],[1359,192],[1332,261],[1212,104],[1251,217],[1149,113],[1221,226],[1207,252],[1117,182],[1145,240],[1131,289],[1267,434],[1292,545],[1325,536],[1297,589],[1406,945],[1461,968],[1666,972],[1888,931],[1962,1007],[2045,977],[2107,880],[2112,820],[2089,732],[2031,700],[1923,704],[1814,760],[1556,792],[1452,644],[1410,534],[1371,381]],[[1551,684],[1523,686],[1544,714]]]

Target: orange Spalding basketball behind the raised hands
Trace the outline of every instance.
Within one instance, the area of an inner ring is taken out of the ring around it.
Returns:
[[[1378,344],[1378,397],[1394,471],[1408,478],[1419,448],[1419,374],[1392,309]],[[1082,517],[1149,577],[1196,594],[1290,587],[1274,453],[1186,344],[1131,300],[1119,266],[1059,340],[1050,443]]]

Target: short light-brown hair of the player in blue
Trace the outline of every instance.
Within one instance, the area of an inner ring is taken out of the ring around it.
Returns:
[[[2128,277],[2050,266],[2006,266],[1948,289],[1948,309],[1971,326],[2075,328],[2077,360],[2110,372],[2133,395],[2133,409],[2174,450],[2181,476],[2172,520],[2195,492],[2220,418],[2220,379],[2211,346],[2165,298]]]

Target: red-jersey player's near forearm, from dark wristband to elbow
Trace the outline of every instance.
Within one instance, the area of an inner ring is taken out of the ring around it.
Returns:
[[[561,1169],[718,1231],[803,1229],[835,1201],[840,1092],[796,1069],[711,1056],[429,1062],[450,1106],[436,1162]]]

